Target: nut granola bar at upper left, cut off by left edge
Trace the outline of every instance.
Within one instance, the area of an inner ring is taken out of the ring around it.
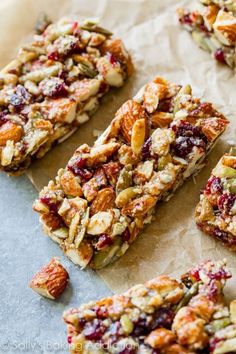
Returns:
[[[24,171],[89,119],[132,63],[97,23],[41,17],[34,40],[0,72],[0,169]]]

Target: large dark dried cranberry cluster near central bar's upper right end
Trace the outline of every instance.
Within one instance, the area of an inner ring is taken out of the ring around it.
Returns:
[[[181,122],[179,126],[173,126],[172,129],[177,138],[172,146],[177,156],[187,157],[195,146],[206,149],[207,138],[198,127],[188,122]]]

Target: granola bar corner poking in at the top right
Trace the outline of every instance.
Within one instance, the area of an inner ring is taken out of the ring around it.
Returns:
[[[236,67],[236,13],[228,11],[227,1],[203,1],[211,3],[203,12],[178,9],[180,24],[192,34],[194,41],[214,58]],[[231,4],[232,1],[229,3]],[[221,9],[218,5],[223,6]],[[236,3],[234,2],[234,6]]]

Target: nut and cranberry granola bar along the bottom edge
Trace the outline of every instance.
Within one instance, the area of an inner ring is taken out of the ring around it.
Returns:
[[[235,352],[235,302],[225,305],[225,262],[203,262],[181,281],[159,276],[121,295],[64,313],[70,352]],[[226,350],[228,348],[228,350]]]

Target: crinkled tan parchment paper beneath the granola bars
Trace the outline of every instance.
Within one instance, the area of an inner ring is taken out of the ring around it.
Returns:
[[[133,55],[136,74],[126,86],[103,99],[102,107],[69,140],[35,162],[28,176],[40,190],[58,168],[64,166],[75,148],[94,141],[93,129],[103,130],[119,106],[155,75],[177,83],[190,83],[196,95],[212,101],[231,121],[227,133],[208,157],[207,166],[181,187],[167,203],[157,209],[155,221],[146,227],[127,253],[111,266],[99,271],[114,292],[143,282],[161,273],[180,275],[202,259],[226,257],[236,277],[236,254],[197,230],[193,214],[199,191],[220,156],[235,143],[235,76],[199,49],[183,31],[175,10],[192,1],[175,0],[1,0],[1,65],[14,58],[17,47],[25,42],[40,11],[56,20],[62,16],[98,16],[101,23],[121,36]],[[193,5],[193,4],[192,4]],[[79,271],[79,270],[78,270]],[[236,294],[232,281],[230,297]]]

